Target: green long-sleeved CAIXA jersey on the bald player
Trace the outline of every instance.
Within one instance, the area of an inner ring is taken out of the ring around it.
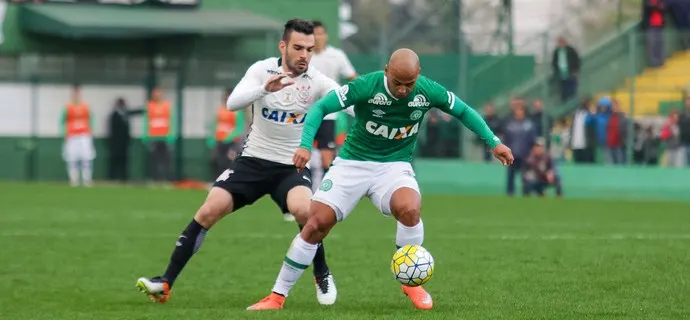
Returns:
[[[442,85],[420,75],[412,92],[398,99],[388,90],[384,72],[378,71],[360,76],[316,102],[307,114],[300,146],[310,150],[323,117],[349,106],[354,106],[355,121],[339,153],[343,159],[412,161],[421,123],[431,108],[460,119],[491,148],[500,143],[482,117]]]

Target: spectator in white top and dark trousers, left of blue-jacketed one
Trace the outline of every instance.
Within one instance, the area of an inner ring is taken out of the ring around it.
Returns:
[[[575,163],[593,163],[596,146],[596,132],[591,121],[591,100],[585,99],[580,108],[575,111],[573,123],[570,127],[570,149],[573,151]]]

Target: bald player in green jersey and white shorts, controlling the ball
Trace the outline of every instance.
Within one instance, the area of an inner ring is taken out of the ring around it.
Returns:
[[[511,150],[476,111],[420,71],[417,54],[399,49],[391,55],[385,71],[363,75],[331,91],[309,110],[301,147],[293,159],[298,168],[309,161],[314,135],[326,114],[354,105],[355,123],[312,198],[309,220],[292,241],[273,292],[249,310],[281,309],[288,292],[311,264],[317,244],[363,196],[398,221],[396,246],[422,244],[422,199],[410,161],[424,114],[431,108],[458,118],[484,140],[503,165],[513,163]],[[433,306],[431,296],[421,286],[403,286],[402,291],[418,309]]]

